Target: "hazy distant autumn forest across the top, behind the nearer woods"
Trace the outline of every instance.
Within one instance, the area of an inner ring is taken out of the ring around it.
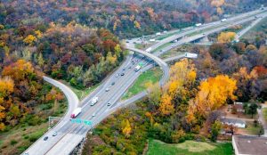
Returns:
[[[247,12],[264,0],[5,0],[0,23],[5,27],[44,27],[50,22],[75,21],[90,28],[109,29],[118,37],[137,37],[181,29],[198,22],[220,20],[224,15]]]

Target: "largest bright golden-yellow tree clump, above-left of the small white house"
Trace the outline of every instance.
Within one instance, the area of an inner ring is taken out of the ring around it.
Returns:
[[[206,118],[212,110],[222,107],[227,99],[235,100],[236,83],[236,80],[224,75],[209,77],[206,81],[202,81],[198,86],[199,91],[195,100],[190,102],[188,119],[194,120],[192,113],[198,113],[198,116]]]

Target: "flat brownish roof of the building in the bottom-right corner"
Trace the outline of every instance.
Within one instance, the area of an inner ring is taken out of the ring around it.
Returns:
[[[266,155],[267,137],[255,135],[233,135],[232,146],[236,155]]]

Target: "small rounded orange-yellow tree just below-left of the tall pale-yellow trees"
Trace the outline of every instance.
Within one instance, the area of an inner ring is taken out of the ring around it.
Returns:
[[[168,116],[174,113],[174,104],[172,103],[172,97],[170,95],[163,94],[158,110],[163,116]]]

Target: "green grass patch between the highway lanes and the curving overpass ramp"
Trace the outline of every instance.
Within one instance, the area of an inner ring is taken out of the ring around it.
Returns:
[[[144,84],[147,84],[149,82],[155,84],[159,81],[160,77],[162,77],[162,71],[158,67],[143,72],[142,75],[136,79],[134,85],[128,89],[122,99],[125,100],[134,96],[135,94],[141,93],[142,91],[147,89],[147,86]]]

